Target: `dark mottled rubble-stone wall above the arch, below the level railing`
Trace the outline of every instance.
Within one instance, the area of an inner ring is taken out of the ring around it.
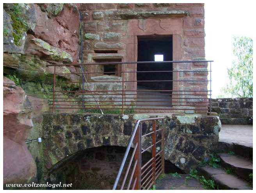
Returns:
[[[44,168],[80,150],[98,146],[127,147],[136,120],[147,115],[44,114]],[[155,117],[155,116],[152,116]],[[165,128],[165,159],[185,172],[217,146],[221,123],[217,116],[171,116],[157,122]],[[151,131],[142,124],[142,134]],[[151,143],[146,137],[142,148]],[[57,164],[58,165],[58,164]],[[54,168],[57,167],[54,166]]]

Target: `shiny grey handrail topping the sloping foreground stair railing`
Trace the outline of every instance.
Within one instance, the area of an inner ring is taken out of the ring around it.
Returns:
[[[144,121],[156,121],[156,120],[159,120],[159,119],[164,119],[164,117],[160,117],[160,118],[158,118],[158,117],[156,117],[156,118],[146,118],[146,119],[138,119],[137,120],[137,122],[136,122],[136,125],[135,125],[135,127],[134,127],[134,130],[133,130],[133,132],[132,132],[132,136],[131,136],[131,139],[130,139],[130,141],[129,141],[129,143],[128,143],[128,146],[127,146],[127,148],[126,148],[126,151],[125,151],[125,153],[124,153],[124,158],[123,158],[123,161],[122,161],[122,163],[121,163],[121,166],[120,166],[120,168],[119,168],[119,171],[118,171],[118,174],[117,174],[117,177],[116,177],[116,181],[115,181],[115,183],[114,183],[114,186],[113,186],[113,190],[115,190],[116,188],[117,188],[117,184],[118,184],[118,182],[119,182],[119,179],[120,179],[120,176],[121,176],[121,174],[122,174],[122,172],[123,172],[123,168],[124,168],[124,164],[125,164],[125,162],[126,162],[126,160],[127,160],[127,156],[128,156],[128,153],[129,153],[129,151],[130,151],[130,149],[131,149],[131,147],[132,147],[132,142],[133,142],[133,140],[134,140],[134,137],[135,137],[135,134],[136,134],[136,132],[137,132],[137,130],[138,130],[138,127],[140,127],[140,123],[141,122],[144,122]],[[142,128],[139,128],[140,130],[142,129]],[[141,133],[140,133],[140,137],[142,137],[142,135],[141,135]],[[139,143],[139,146],[141,146],[141,143]],[[138,146],[136,146],[136,148],[138,148]],[[142,152],[139,152],[140,154],[142,153]],[[133,157],[132,157],[133,158]],[[139,160],[140,162],[141,162],[141,160]],[[141,164],[141,163],[140,163]],[[130,165],[130,164],[129,164]],[[127,171],[126,171],[127,172]],[[126,175],[127,176],[127,175]],[[137,181],[138,179],[136,178],[135,179],[135,181]],[[123,184],[124,184],[124,182],[123,182]]]

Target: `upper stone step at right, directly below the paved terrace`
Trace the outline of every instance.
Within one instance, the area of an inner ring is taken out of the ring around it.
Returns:
[[[249,174],[252,174],[252,161],[246,160],[240,156],[230,155],[227,153],[218,154],[221,165],[225,168],[231,168],[233,172],[239,177],[249,181]]]

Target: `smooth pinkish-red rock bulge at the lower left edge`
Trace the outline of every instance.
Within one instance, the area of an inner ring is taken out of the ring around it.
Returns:
[[[36,164],[25,144],[33,127],[31,104],[22,88],[4,77],[4,184],[31,182]]]

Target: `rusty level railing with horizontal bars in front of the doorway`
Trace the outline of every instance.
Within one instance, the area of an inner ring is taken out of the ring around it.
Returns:
[[[117,114],[173,111],[207,113],[208,109],[211,112],[212,62],[190,60],[47,65],[54,68],[51,109],[52,112],[56,109],[82,109],[85,112],[112,110]],[[171,70],[137,70],[137,65],[156,63],[165,67],[171,65]],[[57,72],[59,67],[82,65],[85,72]],[[115,65],[116,70],[104,71],[106,65]],[[187,67],[182,67],[184,65]],[[143,79],[140,79],[142,74]],[[58,77],[67,75],[76,75],[80,79],[58,81]],[[210,90],[207,89],[208,83]],[[76,86],[76,89],[65,89],[67,85]]]

